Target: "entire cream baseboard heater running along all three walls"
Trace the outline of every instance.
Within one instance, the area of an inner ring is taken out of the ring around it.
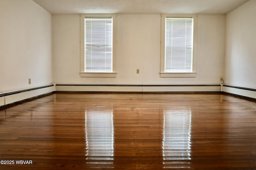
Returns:
[[[84,85],[50,84],[31,89],[0,93],[0,107],[54,91],[70,92],[220,92],[220,85]],[[256,89],[223,85],[223,92],[256,99]]]

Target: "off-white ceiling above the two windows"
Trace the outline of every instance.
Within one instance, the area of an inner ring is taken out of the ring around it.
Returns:
[[[227,14],[248,0],[34,0],[51,14]]]

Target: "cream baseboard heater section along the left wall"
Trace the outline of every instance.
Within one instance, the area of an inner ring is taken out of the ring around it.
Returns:
[[[0,93],[0,107],[5,105],[10,105],[12,103],[24,101],[33,97],[38,97],[40,95],[45,95],[47,93],[52,93],[54,91],[54,85],[44,85],[40,87],[35,87],[31,89],[24,89],[19,91],[12,91],[8,93]]]

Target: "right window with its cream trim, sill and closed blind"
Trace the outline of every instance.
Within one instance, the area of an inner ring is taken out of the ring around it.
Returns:
[[[196,19],[162,14],[161,77],[196,77]]]

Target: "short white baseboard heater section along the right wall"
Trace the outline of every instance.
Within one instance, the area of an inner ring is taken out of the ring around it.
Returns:
[[[223,92],[256,99],[256,89],[223,85]]]

